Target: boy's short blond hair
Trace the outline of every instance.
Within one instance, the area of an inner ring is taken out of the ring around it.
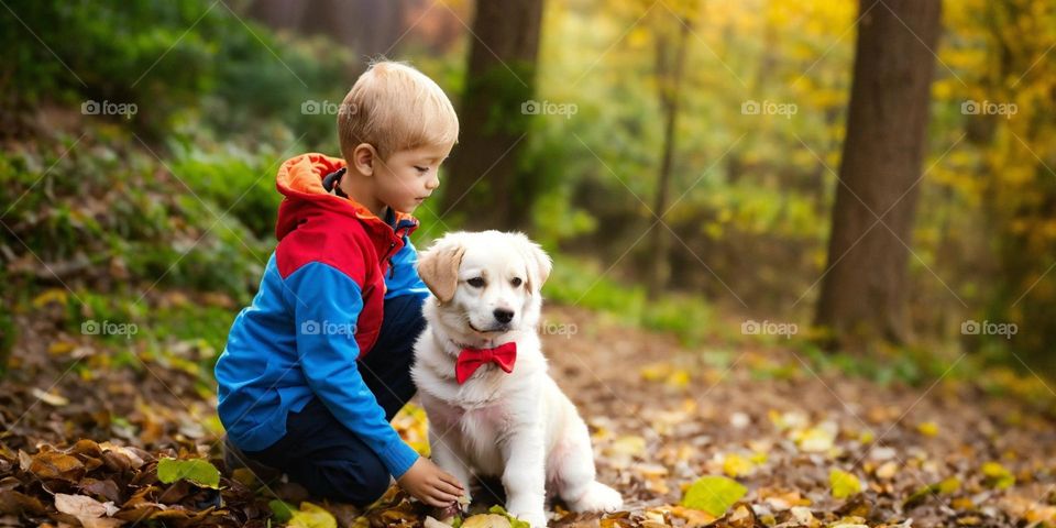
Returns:
[[[338,112],[341,155],[352,163],[361,143],[382,160],[421,146],[450,146],[459,139],[459,118],[443,90],[414,67],[377,61],[344,96]]]

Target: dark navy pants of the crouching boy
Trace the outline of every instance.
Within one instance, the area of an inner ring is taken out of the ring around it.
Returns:
[[[414,344],[426,327],[421,299],[414,296],[385,300],[381,334],[358,366],[392,421],[416,392],[410,377]],[[345,428],[319,398],[286,418],[286,436],[263,451],[246,457],[277,470],[319,498],[366,506],[388,490],[391,475],[362,440]]]

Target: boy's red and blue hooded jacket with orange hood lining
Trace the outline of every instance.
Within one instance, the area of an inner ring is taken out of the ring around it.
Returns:
[[[304,154],[279,168],[278,245],[217,362],[218,411],[235,446],[258,451],[317,396],[399,479],[418,453],[385,420],[356,360],[377,340],[385,298],[428,295],[408,239],[418,221],[391,212],[386,222],[328,194],[322,178],[343,166]]]

